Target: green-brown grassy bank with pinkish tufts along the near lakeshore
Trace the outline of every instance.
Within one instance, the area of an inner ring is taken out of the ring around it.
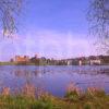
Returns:
[[[34,87],[26,85],[17,94],[3,88],[0,109],[109,109],[109,95],[94,87],[82,92],[73,86],[63,98],[59,98],[47,93],[36,94]]]

